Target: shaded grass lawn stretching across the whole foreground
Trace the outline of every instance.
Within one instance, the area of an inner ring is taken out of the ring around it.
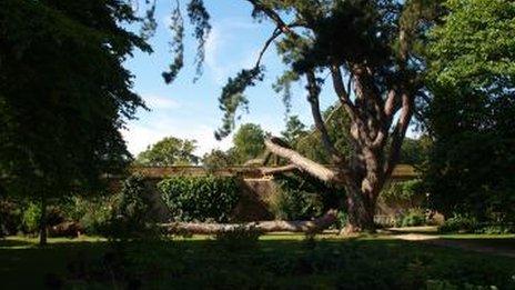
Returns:
[[[513,237],[447,237],[513,242]],[[512,239],[509,239],[512,238]],[[269,234],[256,244],[222,244],[205,236],[113,244],[99,238],[0,240],[2,289],[44,284],[103,289],[425,289],[427,286],[497,286],[515,289],[515,259],[365,236]],[[123,254],[120,254],[123,253]],[[445,288],[440,288],[445,289]]]

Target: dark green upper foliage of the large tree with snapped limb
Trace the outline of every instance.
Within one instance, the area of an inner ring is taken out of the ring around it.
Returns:
[[[339,64],[345,74],[353,74],[354,64],[366,63],[374,72],[370,81],[374,82],[374,89],[381,91],[380,96],[384,94],[388,86],[416,76],[423,67],[416,58],[420,57],[423,36],[431,26],[430,20],[434,18],[437,2],[253,1],[254,18],[277,26],[293,23],[287,32],[277,29],[273,34],[276,37],[277,54],[286,67],[274,89],[284,92],[286,110],[290,107],[291,84],[299,82],[306,71],[321,72],[331,64]],[[400,38],[400,33],[403,37]],[[414,61],[408,66],[398,66],[407,58]],[[254,84],[250,73],[252,71],[243,70],[235,79],[228,81],[225,88],[238,88],[238,94],[228,94],[226,90],[222,92],[220,104],[225,114],[220,129],[223,133],[219,132],[219,137],[226,136],[234,128],[238,108],[248,106],[245,98],[235,97]]]

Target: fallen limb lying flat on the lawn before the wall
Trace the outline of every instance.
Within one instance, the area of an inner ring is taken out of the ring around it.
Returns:
[[[320,232],[329,228],[336,220],[337,211],[330,210],[324,216],[310,221],[254,221],[248,223],[199,223],[199,222],[172,222],[164,223],[161,227],[165,228],[169,233],[188,232],[215,234],[232,230],[255,230],[260,232]]]

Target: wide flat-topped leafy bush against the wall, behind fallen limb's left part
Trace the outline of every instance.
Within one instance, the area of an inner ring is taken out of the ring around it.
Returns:
[[[226,222],[238,201],[234,177],[173,177],[159,182],[164,204],[176,221]]]

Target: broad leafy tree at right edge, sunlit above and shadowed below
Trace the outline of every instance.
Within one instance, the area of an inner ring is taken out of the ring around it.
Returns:
[[[515,2],[448,0],[431,33],[425,181],[447,216],[515,221]]]

